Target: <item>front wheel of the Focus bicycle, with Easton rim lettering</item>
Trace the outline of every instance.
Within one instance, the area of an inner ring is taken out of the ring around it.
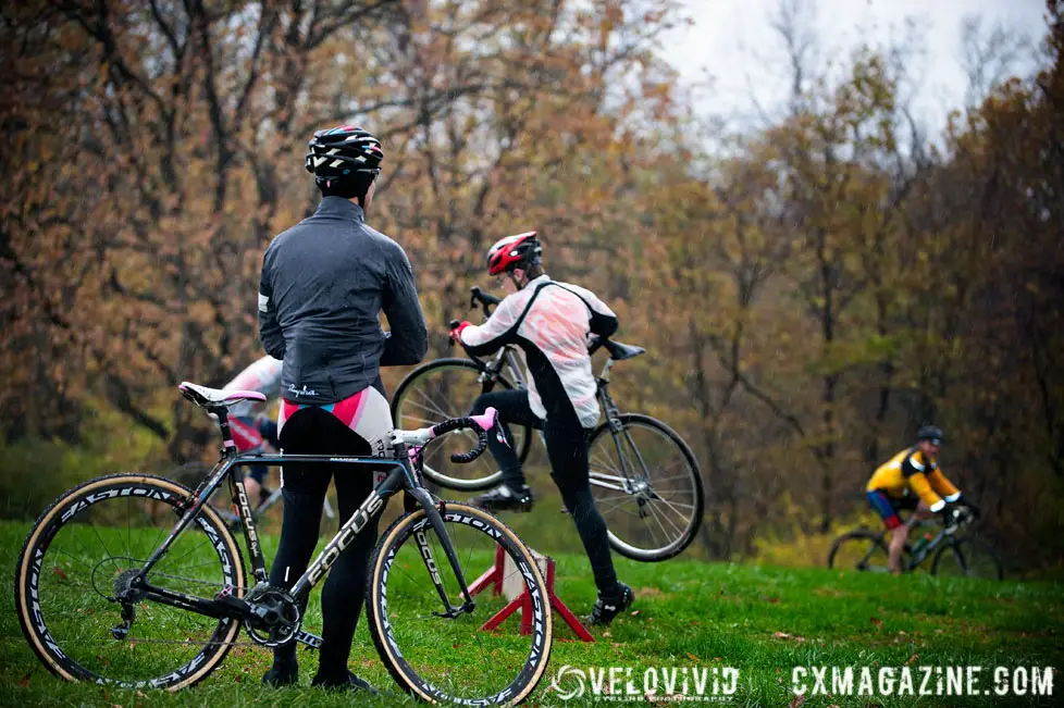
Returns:
[[[528,547],[495,517],[463,504],[440,507],[475,608],[447,612],[435,583],[451,608],[462,605],[460,585],[419,509],[392,524],[370,561],[367,619],[373,643],[395,681],[422,700],[518,704],[535,688],[550,655],[550,604],[543,575]],[[475,580],[488,569],[496,574]],[[499,624],[482,630],[508,605],[507,597],[522,593],[528,601],[518,610],[520,619],[496,618]]]

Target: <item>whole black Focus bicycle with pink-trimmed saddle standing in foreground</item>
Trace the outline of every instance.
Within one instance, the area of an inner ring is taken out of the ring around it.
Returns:
[[[15,604],[26,639],[49,670],[70,681],[176,691],[216,669],[238,644],[242,628],[245,644],[318,647],[321,639],[302,628],[309,591],[401,490],[405,513],[381,534],[366,600],[384,666],[405,691],[428,701],[512,705],[532,692],[550,654],[552,613],[531,552],[498,519],[435,499],[421,481],[423,448],[446,433],[475,430],[479,437],[455,462],[480,455],[494,410],[396,430],[391,457],[238,455],[226,407],[261,394],[187,383],[181,392],[216,417],[223,438],[218,464],[195,490],[143,474],[99,477],[61,496],[29,532],[16,569]],[[242,468],[293,461],[349,465],[352,473],[384,468],[387,474],[285,592],[268,582]],[[236,538],[207,504],[226,480],[250,574]],[[174,516],[154,524],[145,511],[147,499],[168,505]],[[484,594],[474,601],[467,577],[491,567],[498,549],[528,593],[530,634],[480,631],[506,597]],[[459,670],[470,666],[478,671]]]

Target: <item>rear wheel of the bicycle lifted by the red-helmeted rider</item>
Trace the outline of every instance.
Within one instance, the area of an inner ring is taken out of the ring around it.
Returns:
[[[660,561],[691,545],[702,526],[702,472],[668,425],[639,413],[621,428],[598,426],[589,444],[591,490],[609,529],[609,545],[632,560]]]

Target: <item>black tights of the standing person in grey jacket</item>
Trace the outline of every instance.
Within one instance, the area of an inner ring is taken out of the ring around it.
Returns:
[[[369,456],[370,445],[331,413],[316,407],[295,412],[281,430],[281,447],[292,455]],[[307,570],[318,545],[325,489],[335,474],[341,523],[351,518],[373,489],[369,468],[285,464],[282,468],[284,525],[270,583],[290,588]],[[355,625],[366,596],[370,554],[376,545],[374,517],[336,559],[321,593],[322,644],[318,673],[346,680]],[[305,604],[305,598],[299,598]],[[275,649],[275,659],[295,657],[296,643]]]

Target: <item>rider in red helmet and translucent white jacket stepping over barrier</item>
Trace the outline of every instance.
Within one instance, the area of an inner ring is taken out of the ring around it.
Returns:
[[[450,333],[472,355],[521,347],[530,374],[528,389],[491,392],[474,402],[474,414],[488,407],[498,410],[505,439],[488,438],[503,484],[470,504],[490,511],[532,508],[532,492],[506,423],[542,427],[550,476],[572,514],[598,588],[589,622],[609,624],[631,606],[634,594],[617,580],[606,522],[591,494],[587,436],[599,410],[587,344],[592,334],[608,337],[616,332],[617,316],[590,290],[552,281],[543,272],[542,252],[536,232],[495,243],[487,251],[487,272],[503,275],[510,295],[484,324],[462,322]]]

